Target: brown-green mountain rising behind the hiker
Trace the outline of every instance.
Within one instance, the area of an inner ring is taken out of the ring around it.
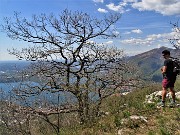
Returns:
[[[179,58],[180,50],[161,47],[132,56],[129,61],[139,67],[143,79],[160,82],[162,80],[160,68],[163,66],[164,61],[162,51],[165,49],[171,52],[172,57]]]

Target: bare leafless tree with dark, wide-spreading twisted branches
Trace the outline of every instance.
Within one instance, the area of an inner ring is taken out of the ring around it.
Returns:
[[[86,13],[64,10],[57,17],[34,15],[32,21],[17,13],[14,17],[14,22],[6,18],[3,25],[8,37],[33,45],[9,52],[20,60],[34,61],[25,76],[38,82],[38,85],[19,88],[16,91],[19,95],[38,95],[44,91],[71,94],[73,102],[65,103],[64,111],[57,104],[56,114],[77,111],[80,122],[86,123],[99,114],[104,98],[122,86],[133,87],[137,82],[135,68],[125,62],[122,50],[93,41],[117,37],[113,25],[120,15],[110,14],[101,20]],[[38,114],[46,116],[49,122],[47,116],[55,112]]]

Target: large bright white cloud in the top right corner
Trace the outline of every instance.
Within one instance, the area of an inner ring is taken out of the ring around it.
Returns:
[[[156,11],[163,15],[180,15],[179,0],[142,0],[134,2],[132,7],[139,11]]]

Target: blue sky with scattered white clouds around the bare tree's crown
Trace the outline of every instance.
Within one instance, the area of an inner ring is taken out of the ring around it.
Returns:
[[[60,14],[64,9],[97,18],[108,13],[121,14],[115,24],[120,38],[102,42],[115,45],[130,56],[161,46],[172,47],[168,40],[174,35],[171,23],[180,21],[180,0],[0,0],[0,24],[4,17],[13,17],[14,12],[31,19],[34,14]],[[0,61],[17,60],[7,49],[25,46],[27,43],[8,38],[0,27]]]

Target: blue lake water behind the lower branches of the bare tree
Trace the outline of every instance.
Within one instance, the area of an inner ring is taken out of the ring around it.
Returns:
[[[12,92],[20,83],[0,83],[0,99],[15,102],[25,106],[46,106],[58,105],[76,102],[76,98],[69,92],[51,93],[48,91],[41,92],[29,97],[15,96]],[[32,83],[33,84],[33,83]],[[37,83],[34,83],[37,85]]]

